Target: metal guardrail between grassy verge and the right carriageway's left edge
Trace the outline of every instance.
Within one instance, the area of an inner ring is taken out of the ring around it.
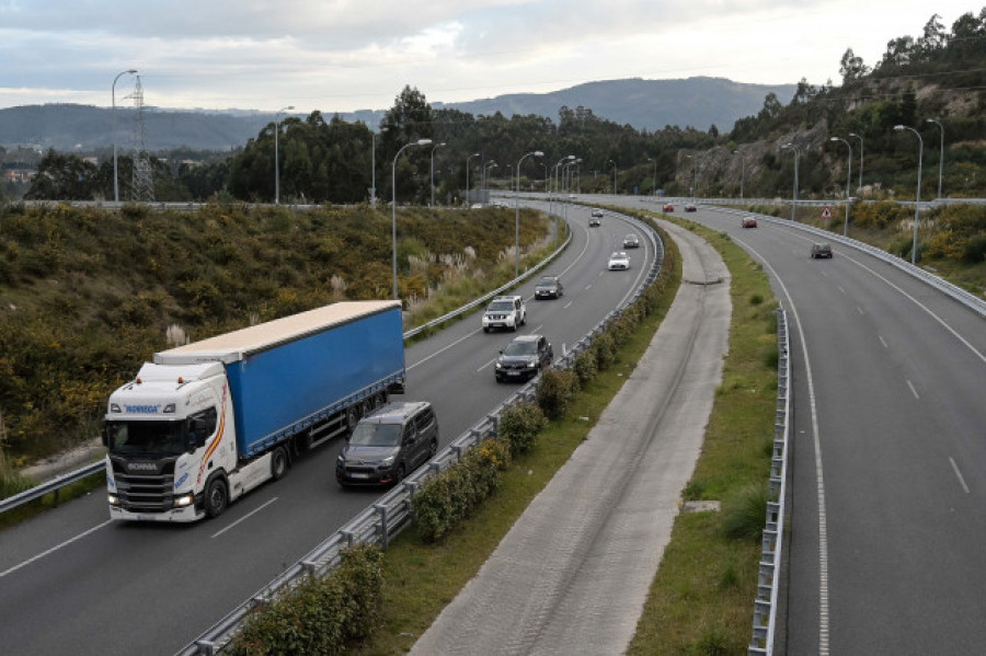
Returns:
[[[784,543],[787,508],[788,438],[791,434],[791,359],[788,338],[788,315],[777,310],[777,417],[773,423],[773,452],[770,459],[770,494],[777,500],[767,503],[767,526],[764,529],[763,555],[757,575],[757,598],[754,600],[753,638],[749,656],[773,654],[777,628],[777,596],[780,589],[780,568]]]

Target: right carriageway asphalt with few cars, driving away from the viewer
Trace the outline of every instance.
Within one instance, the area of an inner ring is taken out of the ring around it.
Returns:
[[[986,320],[848,246],[810,260],[815,239],[787,221],[743,229],[676,205],[760,262],[788,310],[793,503],[775,653],[986,653]]]

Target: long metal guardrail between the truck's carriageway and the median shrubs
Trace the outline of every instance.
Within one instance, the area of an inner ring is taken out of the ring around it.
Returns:
[[[647,272],[643,284],[627,299],[627,301],[607,314],[592,331],[580,339],[571,349],[562,354],[553,366],[570,368],[574,366],[575,358],[592,347],[593,341],[601,334],[606,327],[622,315],[627,308],[637,303],[643,292],[661,275],[661,266],[664,262],[664,244],[656,231],[637,219],[624,217],[631,223],[637,225],[650,239],[654,246],[654,264]],[[436,320],[437,321],[437,320]],[[425,481],[447,470],[458,462],[462,456],[474,445],[484,439],[495,438],[500,424],[500,414],[507,407],[523,401],[534,399],[536,383],[540,376],[535,377],[492,413],[483,417],[472,428],[468,429],[448,447],[438,452],[431,462],[415,470],[404,481],[390,492],[378,498],[371,506],[364,509],[351,519],[342,528],[335,531],[321,544],[305,555],[297,563],[288,567],[277,578],[272,580],[262,590],[243,601],[239,607],[214,624],[195,641],[177,652],[176,656],[213,655],[221,652],[232,641],[236,631],[250,612],[263,606],[277,595],[284,594],[297,586],[307,575],[323,576],[331,572],[340,562],[340,551],[353,544],[375,544],[387,549],[390,539],[400,533],[412,521],[411,496]]]

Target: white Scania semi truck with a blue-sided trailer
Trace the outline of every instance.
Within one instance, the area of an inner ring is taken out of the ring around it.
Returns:
[[[332,303],[157,353],[108,400],[110,517],[217,517],[404,382],[399,301]]]

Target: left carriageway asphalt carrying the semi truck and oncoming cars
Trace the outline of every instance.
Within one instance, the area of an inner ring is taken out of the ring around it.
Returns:
[[[631,251],[630,271],[607,272],[631,229],[612,217],[588,229],[588,215],[569,210],[572,244],[546,272],[563,277],[564,296],[528,300],[517,333],[543,333],[555,355],[632,294],[654,255],[644,240]],[[513,211],[504,216],[514,220]],[[527,299],[534,283],[519,290]],[[406,349],[405,398],[433,403],[443,446],[516,389],[496,383],[492,370],[513,336],[484,334],[475,314]],[[105,494],[95,491],[0,532],[3,653],[174,654],[372,503],[378,492],[335,484],[340,446],[299,459],[283,481],[217,520],[111,522]]]

